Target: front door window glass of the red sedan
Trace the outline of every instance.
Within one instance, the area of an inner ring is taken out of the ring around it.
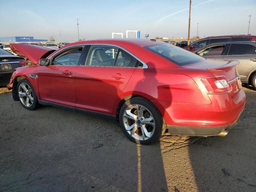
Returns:
[[[52,65],[77,65],[83,48],[68,50],[52,60]]]

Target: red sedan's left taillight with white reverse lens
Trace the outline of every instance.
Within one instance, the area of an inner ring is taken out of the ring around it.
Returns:
[[[225,76],[200,78],[208,94],[220,94],[232,91],[232,86],[228,84]]]

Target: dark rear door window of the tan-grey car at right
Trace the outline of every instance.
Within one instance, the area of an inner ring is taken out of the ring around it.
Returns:
[[[228,55],[253,55],[255,46],[250,44],[231,44]]]

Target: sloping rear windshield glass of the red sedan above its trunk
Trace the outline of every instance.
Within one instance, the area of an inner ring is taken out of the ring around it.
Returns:
[[[203,61],[204,58],[170,44],[156,44],[145,46],[147,50],[168,59],[169,61],[182,66]]]

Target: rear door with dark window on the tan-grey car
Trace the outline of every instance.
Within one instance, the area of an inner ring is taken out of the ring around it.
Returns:
[[[255,46],[252,44],[232,43],[228,55],[223,56],[223,60],[238,60],[236,66],[241,80],[246,80],[250,71],[256,68]]]

